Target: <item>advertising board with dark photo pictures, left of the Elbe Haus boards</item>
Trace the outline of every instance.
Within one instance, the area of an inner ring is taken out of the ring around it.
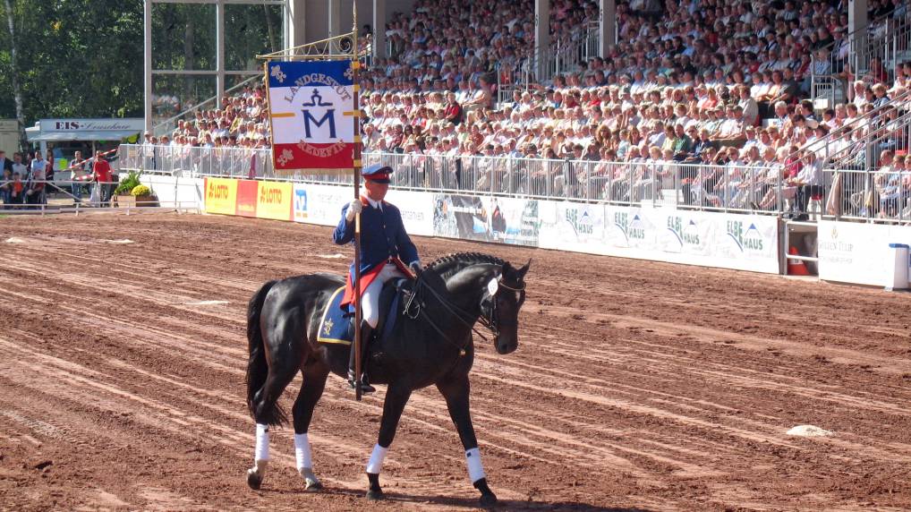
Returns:
[[[434,235],[537,246],[537,200],[434,195]]]

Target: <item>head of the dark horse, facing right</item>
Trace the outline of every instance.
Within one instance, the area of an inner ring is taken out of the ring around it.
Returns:
[[[481,316],[494,331],[496,353],[511,353],[518,347],[518,312],[525,302],[525,274],[530,266],[530,260],[518,269],[505,262],[502,271],[487,282]]]

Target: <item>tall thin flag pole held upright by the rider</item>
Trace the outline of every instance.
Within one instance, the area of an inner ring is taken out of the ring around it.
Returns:
[[[359,80],[361,61],[358,58],[357,48],[357,2],[353,4],[353,30],[352,30],[352,91],[354,96],[354,199],[361,199],[361,108],[360,108],[360,89]],[[361,323],[363,322],[363,311],[361,308],[361,214],[354,216],[354,399],[361,401],[363,391],[361,390],[361,374],[363,373],[363,364],[361,361]]]

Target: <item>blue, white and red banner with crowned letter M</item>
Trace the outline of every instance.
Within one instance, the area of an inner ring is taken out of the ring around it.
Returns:
[[[278,174],[352,172],[351,60],[270,61],[272,160]]]

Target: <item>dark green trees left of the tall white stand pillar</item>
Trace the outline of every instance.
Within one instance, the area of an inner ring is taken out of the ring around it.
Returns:
[[[141,0],[11,0],[26,123],[142,115]],[[5,17],[5,13],[4,13]],[[12,47],[0,31],[0,68]],[[15,117],[0,73],[0,117]]]

